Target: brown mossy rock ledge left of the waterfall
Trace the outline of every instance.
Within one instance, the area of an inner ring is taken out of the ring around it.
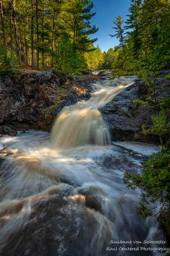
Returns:
[[[97,76],[66,76],[53,70],[17,72],[0,77],[0,134],[49,130],[64,106],[89,99],[89,81]],[[101,79],[101,78],[100,78]]]

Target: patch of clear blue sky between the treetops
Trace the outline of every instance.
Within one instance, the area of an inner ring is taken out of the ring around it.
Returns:
[[[125,20],[129,13],[129,7],[131,6],[131,0],[93,0],[94,8],[92,12],[96,12],[96,15],[92,17],[91,24],[96,25],[99,31],[90,35],[90,38],[98,38],[95,46],[99,44],[101,51],[108,51],[108,49],[118,45],[118,39],[110,35],[115,34],[113,27],[113,21],[116,21],[118,15],[122,16]]]

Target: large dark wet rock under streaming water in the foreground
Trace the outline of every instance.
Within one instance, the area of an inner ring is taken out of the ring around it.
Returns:
[[[96,218],[96,212],[82,204],[81,196],[73,202],[73,188],[61,185],[36,196],[31,202],[31,212],[13,225],[18,225],[10,236],[4,237],[1,255],[5,256],[87,256],[105,255],[104,248],[111,239],[106,219]],[[70,199],[69,199],[70,198]],[[22,210],[23,203],[19,210]],[[18,205],[13,215],[18,215]],[[25,220],[25,221],[24,221]],[[22,223],[24,221],[24,223]],[[102,228],[101,228],[101,223]],[[90,248],[96,230],[99,230],[99,244]],[[1,242],[0,242],[1,243]]]

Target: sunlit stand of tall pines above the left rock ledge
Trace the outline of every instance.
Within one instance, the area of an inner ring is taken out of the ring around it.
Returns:
[[[90,0],[0,0],[0,63],[15,68],[56,67],[71,72],[85,67],[92,51]]]

